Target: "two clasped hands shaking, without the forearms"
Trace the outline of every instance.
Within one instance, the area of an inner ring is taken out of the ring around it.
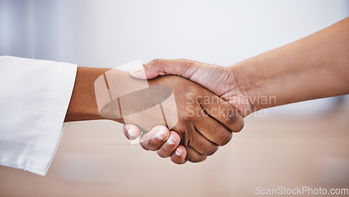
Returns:
[[[180,77],[158,77],[167,74]],[[140,136],[145,150],[184,164],[205,160],[244,126],[251,105],[234,76],[230,68],[154,60],[130,73],[107,70],[94,90],[100,115],[125,123],[128,139]]]

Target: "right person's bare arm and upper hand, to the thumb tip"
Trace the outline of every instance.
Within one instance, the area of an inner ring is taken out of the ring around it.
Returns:
[[[226,100],[245,117],[268,107],[348,94],[348,62],[349,17],[230,68],[186,59],[156,59],[133,68],[130,74],[139,79],[184,77]]]

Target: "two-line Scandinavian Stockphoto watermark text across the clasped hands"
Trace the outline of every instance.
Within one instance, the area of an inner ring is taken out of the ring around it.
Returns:
[[[207,114],[223,114],[223,113],[230,113],[233,114],[232,111],[227,111],[225,107],[222,107],[223,105],[221,104],[226,104],[224,100],[222,100],[220,97],[216,96],[196,96],[193,94],[188,94],[186,95],[187,98],[189,99],[188,107],[186,111],[189,112],[189,116],[202,116],[202,111],[200,109],[197,109],[193,107],[193,104],[195,103],[200,103],[202,106],[207,106],[207,105],[212,105],[216,104],[215,108],[212,109],[207,109],[205,108],[204,111]],[[247,108],[244,106],[250,106],[251,103],[253,103],[252,108]],[[263,96],[263,95],[257,95],[255,97],[245,97],[242,99],[235,100],[234,102],[235,105],[237,106],[242,106],[243,111],[239,111],[244,114],[253,114],[253,116],[260,116],[264,117],[267,116],[267,111],[265,109],[258,110],[255,107],[255,104],[257,105],[264,105],[264,106],[275,106],[276,105],[276,96]],[[205,115],[204,115],[205,116]]]

